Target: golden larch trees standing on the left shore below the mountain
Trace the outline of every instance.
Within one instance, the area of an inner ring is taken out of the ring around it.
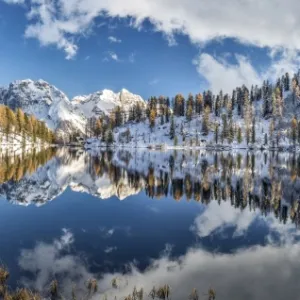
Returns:
[[[55,142],[55,134],[48,129],[45,122],[24,113],[20,108],[13,111],[5,105],[0,105],[0,132],[7,137],[19,135],[24,144],[26,138],[31,138],[33,143],[36,143],[38,139],[47,143]]]

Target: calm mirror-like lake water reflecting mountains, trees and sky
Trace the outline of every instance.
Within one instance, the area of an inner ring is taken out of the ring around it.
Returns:
[[[12,287],[97,299],[300,299],[300,156],[57,149],[0,162],[0,260]],[[118,288],[111,287],[117,278]],[[147,297],[145,297],[147,298]]]

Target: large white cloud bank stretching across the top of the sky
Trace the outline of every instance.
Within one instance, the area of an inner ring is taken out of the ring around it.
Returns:
[[[10,1],[11,2],[11,1]],[[42,45],[54,44],[75,55],[72,38],[83,34],[96,17],[131,17],[131,26],[141,28],[149,19],[155,30],[174,43],[174,34],[189,36],[193,43],[232,37],[259,47],[300,49],[300,19],[297,0],[31,0],[35,18],[26,29],[27,37]]]

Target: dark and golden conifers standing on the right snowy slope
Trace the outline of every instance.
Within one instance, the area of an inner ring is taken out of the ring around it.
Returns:
[[[238,87],[231,94],[220,91],[213,94],[210,90],[202,94],[187,97],[177,94],[170,100],[168,97],[151,97],[145,107],[136,105],[130,111],[117,107],[110,116],[101,116],[89,120],[87,135],[100,137],[102,141],[110,144],[114,141],[113,132],[116,127],[127,123],[139,123],[148,120],[151,131],[156,125],[169,124],[169,137],[176,141],[174,117],[181,118],[182,124],[193,119],[198,122],[197,136],[207,136],[210,132],[214,141],[231,144],[245,141],[248,145],[257,141],[256,124],[261,118],[269,120],[269,128],[260,132],[263,144],[279,145],[280,140],[287,137],[294,143],[300,143],[300,122],[296,115],[290,119],[289,128],[284,134],[280,123],[283,119],[284,108],[287,103],[285,93],[290,92],[289,100],[296,105],[300,97],[300,71],[290,77],[286,73],[275,84],[264,81],[261,86]],[[237,122],[237,120],[240,120]],[[176,122],[175,122],[176,123]],[[129,132],[130,134],[130,132]],[[180,130],[182,140],[185,140],[183,128]],[[128,139],[130,140],[130,139]]]

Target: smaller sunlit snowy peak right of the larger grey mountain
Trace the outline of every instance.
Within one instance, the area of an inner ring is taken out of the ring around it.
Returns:
[[[125,112],[136,104],[140,104],[141,107],[146,106],[141,96],[134,95],[125,89],[119,93],[103,90],[87,96],[77,96],[72,100],[72,104],[86,118],[109,115],[117,106],[120,106]]]

